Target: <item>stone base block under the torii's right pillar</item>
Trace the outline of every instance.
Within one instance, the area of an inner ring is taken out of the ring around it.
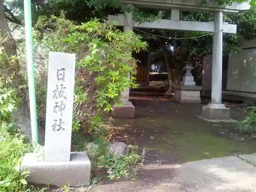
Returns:
[[[212,120],[229,120],[230,109],[226,108],[224,104],[212,104],[203,106],[202,117]]]

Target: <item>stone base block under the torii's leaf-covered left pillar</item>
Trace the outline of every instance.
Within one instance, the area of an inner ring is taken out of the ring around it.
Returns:
[[[131,101],[126,101],[123,106],[114,106],[113,117],[134,118],[135,106]]]

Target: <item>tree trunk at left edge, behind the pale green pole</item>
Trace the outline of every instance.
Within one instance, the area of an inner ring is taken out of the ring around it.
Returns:
[[[6,58],[16,56],[16,41],[13,38],[11,30],[7,24],[3,0],[0,0],[0,30],[1,38],[5,39],[3,45]],[[20,73],[21,69],[18,60],[5,60],[6,61],[2,65],[1,73],[8,77],[13,77],[11,86],[18,90],[18,97],[21,99],[18,104],[18,109],[13,113],[13,123],[17,126],[17,130],[19,132],[23,133],[29,140],[32,140],[26,79],[24,78],[24,75]],[[40,124],[38,124],[38,134],[40,144],[43,144],[44,131]]]

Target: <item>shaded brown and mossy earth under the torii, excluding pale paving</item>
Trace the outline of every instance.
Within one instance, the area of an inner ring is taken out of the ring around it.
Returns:
[[[172,164],[256,152],[256,143],[234,130],[236,124],[211,123],[195,117],[202,105],[181,104],[156,97],[134,97],[135,119],[118,119],[114,140],[145,149],[146,163]],[[207,100],[203,104],[207,104]],[[231,118],[244,119],[248,110],[231,107]]]

